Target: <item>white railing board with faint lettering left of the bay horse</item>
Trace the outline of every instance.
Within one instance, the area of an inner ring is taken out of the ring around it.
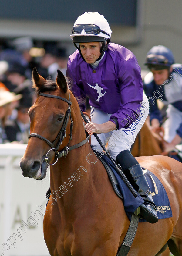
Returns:
[[[26,144],[0,144],[0,256],[48,256],[43,238],[43,180],[22,176],[19,162]]]

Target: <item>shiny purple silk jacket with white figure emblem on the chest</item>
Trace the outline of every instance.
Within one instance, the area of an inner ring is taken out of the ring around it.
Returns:
[[[66,76],[71,79],[71,91],[76,97],[89,98],[95,108],[111,114],[110,121],[121,129],[136,121],[143,99],[140,66],[131,51],[111,43],[99,65],[93,69],[78,50],[70,55]],[[85,105],[80,104],[84,111]],[[132,119],[128,118],[132,116]]]

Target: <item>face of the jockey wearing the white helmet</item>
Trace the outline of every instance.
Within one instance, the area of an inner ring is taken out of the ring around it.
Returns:
[[[89,64],[93,64],[100,57],[101,42],[79,43],[83,58]]]

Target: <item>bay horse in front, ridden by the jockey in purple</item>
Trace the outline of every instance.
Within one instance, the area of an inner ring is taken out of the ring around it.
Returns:
[[[78,102],[61,71],[56,81],[45,80],[36,69],[32,77],[38,97],[29,110],[31,134],[20,167],[24,177],[41,180],[50,165],[51,195],[43,222],[49,253],[116,256],[130,221],[103,164],[85,142]],[[128,256],[157,255],[168,240],[181,256],[182,164],[167,156],[137,160],[163,183],[173,217],[139,222]]]

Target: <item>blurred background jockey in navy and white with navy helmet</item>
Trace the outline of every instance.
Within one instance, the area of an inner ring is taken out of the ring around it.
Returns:
[[[150,69],[143,81],[150,104],[150,123],[155,131],[162,122],[157,99],[167,105],[164,128],[164,151],[174,150],[182,141],[182,65],[174,64],[173,53],[163,45],[153,46],[145,65]]]

